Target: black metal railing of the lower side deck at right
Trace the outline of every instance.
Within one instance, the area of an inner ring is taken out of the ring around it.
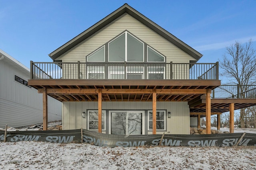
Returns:
[[[221,85],[212,90],[212,98],[256,98],[256,85]]]

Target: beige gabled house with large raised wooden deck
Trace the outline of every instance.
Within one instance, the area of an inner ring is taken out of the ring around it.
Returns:
[[[220,120],[230,107],[244,107],[242,100],[230,105],[210,96],[221,85],[218,62],[196,63],[202,54],[128,4],[49,56],[54,62],[31,62],[28,83],[45,103],[48,95],[62,101],[65,130],[189,134],[190,117],[200,126],[206,116],[210,133],[211,114]],[[211,101],[220,103],[214,107]]]

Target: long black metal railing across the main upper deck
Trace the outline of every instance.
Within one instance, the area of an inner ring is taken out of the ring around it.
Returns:
[[[218,80],[216,63],[30,62],[31,79]]]

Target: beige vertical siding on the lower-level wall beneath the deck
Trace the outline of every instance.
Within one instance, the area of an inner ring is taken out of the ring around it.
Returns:
[[[171,118],[166,117],[165,133],[189,134],[190,115],[187,102],[156,102],[156,109],[166,110],[166,114],[167,112],[172,113]],[[63,102],[63,129],[79,129],[81,127],[87,129],[87,116],[82,118],[82,112],[87,112],[87,110],[98,110],[98,102]],[[152,110],[152,102],[102,102],[102,110]],[[109,119],[106,118],[106,120]],[[157,131],[156,133],[162,134],[163,132]],[[152,132],[149,131],[148,134],[152,134]]]

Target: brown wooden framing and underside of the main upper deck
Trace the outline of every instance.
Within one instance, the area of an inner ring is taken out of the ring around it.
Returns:
[[[206,89],[220,85],[219,80],[29,80],[29,85],[48,89],[47,94],[61,102],[98,101],[97,89],[102,90],[102,101],[152,101],[152,90],[157,90],[159,102],[193,102]]]

